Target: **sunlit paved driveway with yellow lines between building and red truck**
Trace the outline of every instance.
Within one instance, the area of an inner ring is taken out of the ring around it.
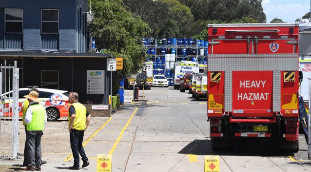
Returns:
[[[112,154],[113,172],[204,172],[204,155],[219,155],[221,172],[311,172],[303,135],[298,153],[273,150],[262,140],[242,140],[235,143],[238,150],[215,152],[206,99],[195,101],[188,91],[172,87],[152,87],[139,95],[139,101],[131,102],[133,91],[125,90],[125,105],[117,113],[92,119],[84,137],[91,164],[83,172],[96,172],[97,154]],[[42,171],[70,171],[66,170],[73,165],[67,125],[65,120],[49,122],[42,143],[42,159],[48,163]],[[23,143],[20,135],[19,152]],[[3,165],[21,163],[22,159],[0,160]]]

